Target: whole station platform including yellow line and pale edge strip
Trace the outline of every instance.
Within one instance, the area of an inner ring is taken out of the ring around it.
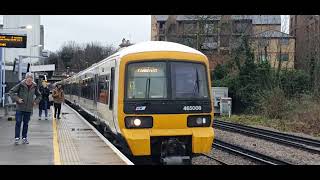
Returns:
[[[1,114],[0,165],[133,165],[75,110],[63,104],[61,112],[61,119],[53,119],[51,109],[48,120],[38,120],[35,108],[29,122],[30,144],[18,145],[15,121]]]

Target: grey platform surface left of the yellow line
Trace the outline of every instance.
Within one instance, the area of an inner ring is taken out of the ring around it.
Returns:
[[[52,119],[39,121],[38,110],[34,109],[29,122],[28,145],[21,144],[21,141],[14,145],[15,123],[8,121],[7,117],[0,118],[0,164],[53,164]]]

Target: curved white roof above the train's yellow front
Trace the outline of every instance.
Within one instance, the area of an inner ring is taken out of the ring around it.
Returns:
[[[167,41],[146,41],[134,44],[126,47],[114,55],[123,57],[128,54],[140,53],[140,52],[152,52],[152,51],[179,51],[203,55],[200,51],[191,47]]]

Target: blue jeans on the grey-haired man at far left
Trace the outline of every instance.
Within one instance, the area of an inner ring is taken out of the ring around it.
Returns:
[[[16,128],[15,138],[20,138],[21,123],[23,121],[22,138],[27,138],[28,123],[30,121],[31,112],[17,111],[16,112]]]

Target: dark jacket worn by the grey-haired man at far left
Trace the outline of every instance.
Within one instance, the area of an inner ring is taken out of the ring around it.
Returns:
[[[41,100],[41,94],[37,88],[37,84],[33,82],[29,88],[26,80],[21,81],[10,89],[9,95],[11,99],[16,101],[17,111],[32,112],[33,103],[39,103]],[[36,95],[36,98],[34,98],[34,95]],[[19,99],[23,99],[23,103],[19,103]]]

